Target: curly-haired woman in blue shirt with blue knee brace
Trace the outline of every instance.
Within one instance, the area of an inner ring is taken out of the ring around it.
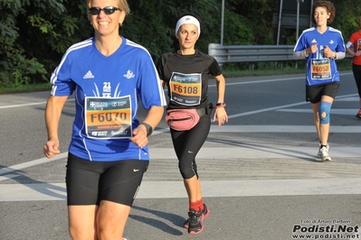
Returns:
[[[335,6],[329,1],[313,5],[316,26],[302,32],[294,48],[297,60],[307,60],[306,100],[311,103],[313,119],[319,139],[317,157],[331,161],[328,154],[330,109],[339,88],[339,74],[335,60],[345,58],[342,33],[328,25],[335,19]]]

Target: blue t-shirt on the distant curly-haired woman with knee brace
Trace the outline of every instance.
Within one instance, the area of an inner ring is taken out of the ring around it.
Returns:
[[[309,54],[306,69],[306,85],[327,84],[339,81],[337,65],[334,59],[324,56],[323,50],[327,46],[331,51],[346,51],[342,33],[337,29],[328,27],[326,32],[320,33],[315,27],[302,32],[294,51],[304,51],[317,44],[318,51]]]

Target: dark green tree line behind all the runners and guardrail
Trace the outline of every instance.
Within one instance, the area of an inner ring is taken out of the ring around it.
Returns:
[[[296,0],[295,5],[297,4]],[[0,0],[0,87],[49,82],[62,54],[75,42],[93,34],[86,0]],[[337,15],[333,27],[345,42],[358,30],[361,5],[354,0],[334,0]],[[130,14],[119,33],[137,42],[154,60],[177,46],[178,16],[193,12],[201,17],[201,36],[196,44],[207,52],[208,44],[220,42],[220,0],[131,0]],[[272,15],[275,0],[224,0],[223,45],[274,44]],[[285,44],[295,44],[295,30],[287,30]],[[301,30],[300,30],[301,31]]]

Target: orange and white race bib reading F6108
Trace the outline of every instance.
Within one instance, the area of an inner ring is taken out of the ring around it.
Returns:
[[[202,75],[173,72],[169,88],[171,101],[184,106],[199,105],[202,96]]]

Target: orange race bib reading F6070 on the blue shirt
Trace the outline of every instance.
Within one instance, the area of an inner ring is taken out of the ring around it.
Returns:
[[[131,103],[127,97],[85,97],[85,131],[90,138],[119,139],[132,135]]]

